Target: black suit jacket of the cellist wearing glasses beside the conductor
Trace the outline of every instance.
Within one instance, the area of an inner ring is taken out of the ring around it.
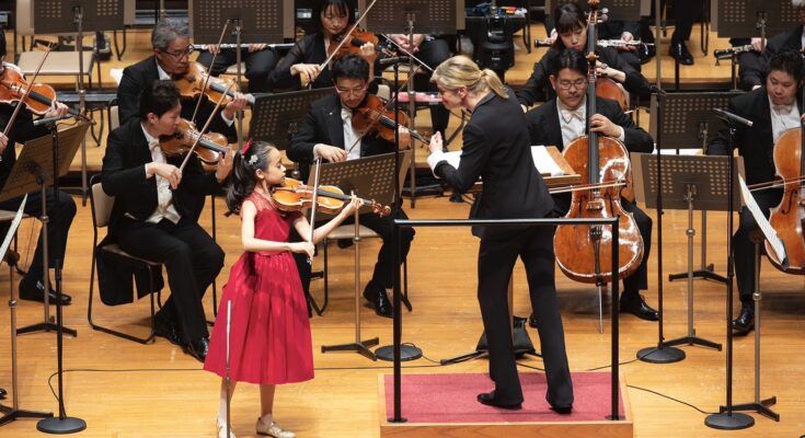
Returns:
[[[625,137],[623,143],[628,151],[652,152],[654,150],[652,136],[635,125],[628,115],[623,114],[616,101],[598,97],[596,99],[596,110],[613,124],[623,128]],[[526,113],[526,120],[528,122],[531,145],[555,146],[559,150],[564,150],[556,97]]]

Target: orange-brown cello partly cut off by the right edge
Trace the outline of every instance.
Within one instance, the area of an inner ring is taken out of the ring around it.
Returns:
[[[805,154],[802,152],[805,129],[794,128],[783,132],[774,143],[775,175],[782,178],[783,197],[771,209],[769,223],[785,244],[789,266],[777,260],[777,253],[766,242],[769,261],[778,269],[787,274],[805,274]]]

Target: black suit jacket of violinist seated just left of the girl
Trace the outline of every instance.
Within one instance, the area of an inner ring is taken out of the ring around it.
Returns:
[[[168,157],[168,162],[180,166],[182,157]],[[110,219],[110,235],[114,235],[125,220],[125,214],[134,220],[145,221],[157,208],[157,177],[146,178],[146,163],[150,163],[151,151],[142,132],[139,119],[130,119],[108,137],[106,154],[103,157],[103,191],[115,197]],[[197,220],[207,195],[220,189],[215,173],[205,173],[195,157],[182,172],[182,181],[173,191],[176,211],[183,218]]]

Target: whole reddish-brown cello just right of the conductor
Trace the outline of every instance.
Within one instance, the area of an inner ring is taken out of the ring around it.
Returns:
[[[590,0],[587,47],[595,45],[598,0]],[[595,53],[587,56],[589,76],[587,83],[587,123],[596,114],[596,62]],[[568,145],[564,157],[568,164],[582,175],[582,184],[591,188],[574,191],[571,208],[565,218],[613,218],[619,217],[619,266],[618,278],[612,279],[612,231],[602,226],[559,226],[553,238],[553,247],[560,269],[570,278],[580,283],[602,285],[630,276],[643,260],[643,238],[634,217],[621,206],[620,182],[631,173],[626,148],[617,139],[588,130]]]

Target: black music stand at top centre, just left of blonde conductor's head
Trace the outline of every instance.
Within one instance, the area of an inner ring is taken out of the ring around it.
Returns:
[[[360,10],[366,10],[361,7]],[[464,0],[383,0],[375,3],[366,16],[366,27],[380,34],[406,34],[414,38],[414,30],[418,34],[450,35],[464,28]],[[394,92],[400,89],[398,66],[394,65]],[[409,74],[413,74],[417,66],[413,57],[409,58]],[[409,82],[409,128],[416,129],[416,91],[413,81]],[[399,110],[395,100],[395,111]],[[414,150],[414,138],[410,148]],[[411,208],[416,208],[416,157],[411,160],[409,181]],[[419,187],[421,191],[433,191],[434,186]],[[441,187],[437,186],[437,191]]]

